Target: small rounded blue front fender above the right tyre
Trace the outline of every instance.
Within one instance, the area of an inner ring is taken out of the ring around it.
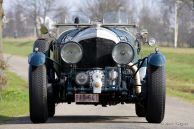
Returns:
[[[161,67],[161,66],[164,66],[165,63],[166,63],[166,58],[160,52],[153,53],[148,57],[149,66]]]

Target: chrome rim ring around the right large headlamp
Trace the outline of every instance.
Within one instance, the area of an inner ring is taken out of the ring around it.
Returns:
[[[126,44],[126,45],[128,45],[130,48],[131,48],[131,50],[132,50],[132,58],[131,58],[131,60],[129,60],[127,63],[119,63],[119,62],[117,62],[115,59],[114,59],[114,57],[113,57],[113,51],[114,51],[114,49],[115,49],[115,47],[116,46],[118,46],[118,45],[120,45],[120,44]],[[119,64],[119,65],[127,65],[127,64],[129,64],[130,62],[132,62],[133,60],[134,60],[134,58],[135,58],[135,51],[134,51],[134,48],[132,47],[132,45],[130,44],[130,43],[128,43],[128,42],[119,42],[119,43],[117,43],[114,47],[113,47],[113,49],[112,49],[112,59],[117,63],[117,64]]]

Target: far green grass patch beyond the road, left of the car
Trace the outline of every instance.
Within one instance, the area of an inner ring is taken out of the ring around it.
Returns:
[[[3,40],[3,52],[26,57],[31,53],[34,41],[34,38],[6,38]]]

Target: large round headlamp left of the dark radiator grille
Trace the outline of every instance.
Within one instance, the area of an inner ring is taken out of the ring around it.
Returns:
[[[65,43],[61,49],[61,58],[69,64],[78,63],[83,55],[81,46],[75,42]]]

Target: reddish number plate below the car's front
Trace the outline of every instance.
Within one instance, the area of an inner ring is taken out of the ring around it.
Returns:
[[[98,94],[75,94],[75,102],[97,103],[99,102]]]

